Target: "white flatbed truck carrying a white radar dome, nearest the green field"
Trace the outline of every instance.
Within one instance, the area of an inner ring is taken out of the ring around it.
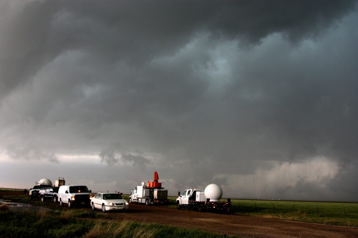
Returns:
[[[231,199],[227,201],[220,201],[222,197],[222,189],[217,184],[209,184],[205,190],[190,188],[186,189],[183,194],[180,195],[178,191],[178,198],[176,198],[176,208],[188,208],[198,209],[202,211],[216,211],[222,210],[230,213],[231,211]]]

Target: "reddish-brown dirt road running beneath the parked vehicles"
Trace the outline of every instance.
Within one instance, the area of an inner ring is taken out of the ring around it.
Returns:
[[[40,203],[40,201],[38,201]],[[46,205],[54,205],[46,202]],[[46,206],[46,207],[47,207]],[[68,209],[67,207],[59,210]],[[74,208],[78,209],[78,208]],[[91,211],[91,208],[84,208]],[[96,210],[96,212],[101,212]],[[268,218],[252,218],[236,215],[177,210],[130,204],[125,213],[108,213],[119,221],[159,223],[164,225],[200,229],[248,237],[358,237],[357,227],[342,227],[324,224],[280,221]]]

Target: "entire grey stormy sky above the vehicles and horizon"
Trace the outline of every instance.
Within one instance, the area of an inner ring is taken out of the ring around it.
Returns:
[[[0,1],[0,187],[358,201],[357,1]]]

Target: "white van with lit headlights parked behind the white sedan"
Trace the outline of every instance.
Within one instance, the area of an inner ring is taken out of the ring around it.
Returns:
[[[67,203],[69,208],[88,206],[92,198],[91,192],[87,186],[83,185],[62,185],[58,189],[57,200],[61,207],[64,203]]]

